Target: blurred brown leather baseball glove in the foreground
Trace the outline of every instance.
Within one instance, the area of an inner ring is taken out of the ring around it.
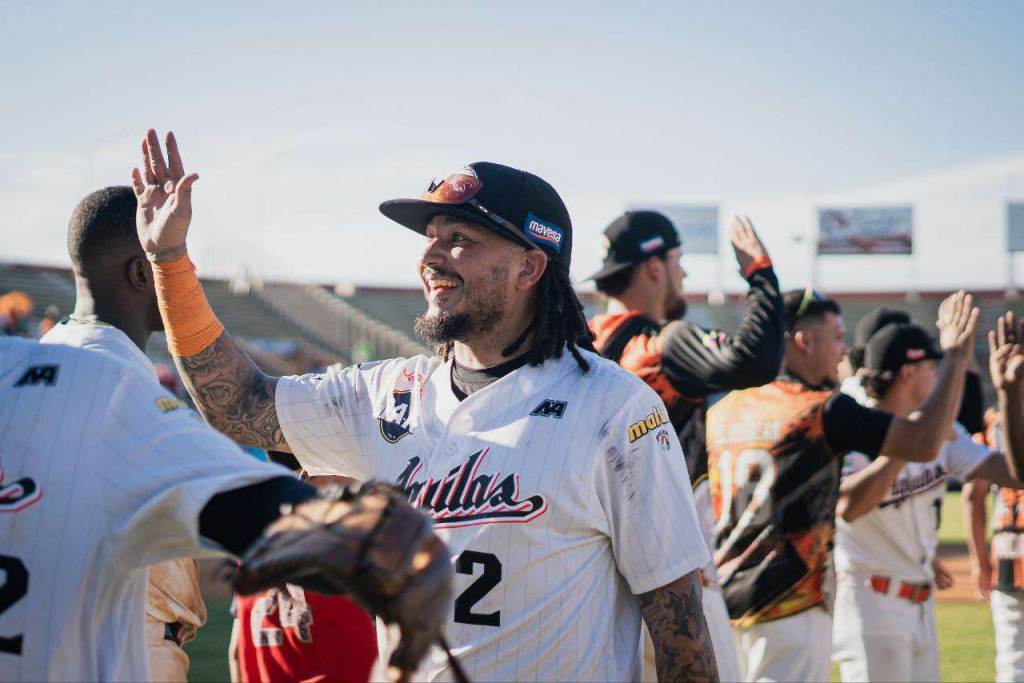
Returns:
[[[432,644],[443,645],[452,558],[430,519],[399,489],[383,483],[335,487],[283,512],[242,558],[234,575],[239,593],[290,583],[351,597],[398,625],[401,638],[389,670],[397,680],[408,679]],[[453,667],[458,670],[454,659]]]

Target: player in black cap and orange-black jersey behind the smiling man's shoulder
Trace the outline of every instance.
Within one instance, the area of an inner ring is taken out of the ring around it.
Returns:
[[[736,334],[705,330],[683,318],[685,272],[675,225],[655,211],[630,211],[604,230],[604,265],[597,291],[623,312],[591,322],[595,347],[657,391],[686,455],[693,496],[710,552],[714,518],[708,485],[705,417],[708,396],[760,386],[775,379],[782,361],[782,297],[771,259],[749,218],[735,217],[730,241],[750,284]],[[701,570],[703,609],[723,680],[738,680],[739,663],[715,564]]]

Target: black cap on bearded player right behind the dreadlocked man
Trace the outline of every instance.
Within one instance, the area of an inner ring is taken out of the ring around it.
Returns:
[[[683,244],[672,221],[656,211],[627,211],[604,228],[604,265],[588,280],[603,280]]]

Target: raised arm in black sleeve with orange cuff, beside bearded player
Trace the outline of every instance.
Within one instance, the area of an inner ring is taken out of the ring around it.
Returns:
[[[745,216],[733,217],[729,239],[750,284],[736,333],[709,333],[688,321],[671,323],[662,332],[665,374],[684,396],[761,386],[775,379],[782,364],[782,296],[771,259]]]

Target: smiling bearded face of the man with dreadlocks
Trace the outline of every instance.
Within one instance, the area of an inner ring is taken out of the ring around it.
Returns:
[[[419,270],[427,310],[416,321],[417,334],[438,345],[492,332],[522,296],[517,284],[528,251],[451,216],[432,218],[426,234]]]

